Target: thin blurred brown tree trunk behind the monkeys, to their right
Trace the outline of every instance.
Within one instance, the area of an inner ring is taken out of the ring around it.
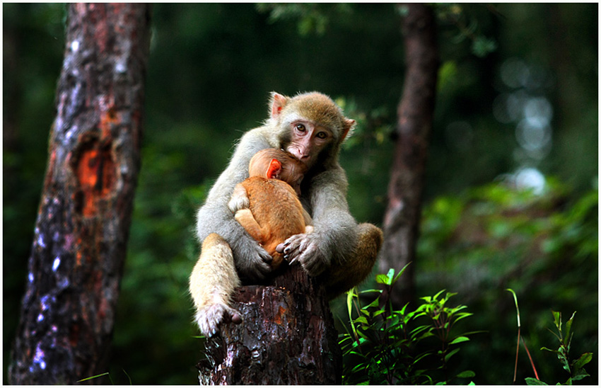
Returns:
[[[391,295],[397,309],[415,296],[415,251],[439,65],[431,7],[424,4],[404,4],[402,7],[407,11],[402,18],[407,72],[398,108],[395,154],[384,218],[385,238],[380,256],[380,272],[383,273],[390,268],[400,270],[412,263]]]

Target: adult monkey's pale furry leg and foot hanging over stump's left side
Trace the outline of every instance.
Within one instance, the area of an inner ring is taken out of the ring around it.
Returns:
[[[230,246],[218,234],[209,234],[189,281],[196,308],[194,321],[204,336],[213,336],[222,323],[242,321],[240,313],[229,306],[230,297],[239,285]]]

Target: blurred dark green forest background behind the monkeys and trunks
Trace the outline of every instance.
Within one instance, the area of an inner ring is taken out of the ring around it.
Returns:
[[[541,380],[568,375],[551,310],[576,311],[572,352],[598,382],[598,6],[435,5],[440,76],[416,270],[418,296],[473,316],[456,362],[510,384],[517,334]],[[55,115],[64,4],[3,4],[4,382]],[[187,279],[194,212],[270,91],[322,91],[358,121],[342,152],[356,219],[381,225],[404,77],[393,4],[155,4],[142,169],[110,374],[197,384]],[[397,268],[398,269],[398,268]],[[368,284],[366,284],[368,287]],[[332,303],[345,319],[344,298]],[[337,319],[338,320],[338,319]],[[342,326],[341,329],[342,330]],[[532,376],[523,350],[518,383]]]

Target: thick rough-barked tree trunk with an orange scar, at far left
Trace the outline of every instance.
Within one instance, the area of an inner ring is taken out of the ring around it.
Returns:
[[[140,163],[149,18],[141,4],[69,6],[11,384],[105,372]]]

